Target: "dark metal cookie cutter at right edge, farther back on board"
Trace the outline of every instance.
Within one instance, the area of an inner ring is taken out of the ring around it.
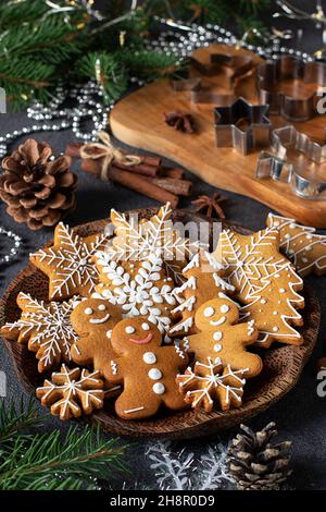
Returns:
[[[278,83],[286,81],[284,90]],[[294,96],[291,90],[296,85],[314,86],[314,90],[302,97]],[[326,64],[323,62],[303,62],[292,56],[281,56],[276,61],[267,61],[258,66],[258,92],[260,101],[269,105],[271,113],[281,114],[289,121],[306,121],[313,118],[316,103],[323,96],[322,88],[326,86]]]

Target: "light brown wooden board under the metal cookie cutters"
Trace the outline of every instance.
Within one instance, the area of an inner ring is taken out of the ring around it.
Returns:
[[[197,50],[193,56],[208,62],[210,54],[244,53],[252,57],[254,64],[263,59],[246,49],[237,50],[226,45],[212,45]],[[212,85],[216,93],[229,92],[224,74],[205,76],[204,83]],[[283,84],[284,90],[296,92],[297,97],[309,94],[310,86]],[[255,76],[244,78],[237,95],[251,103],[258,103]],[[298,197],[286,183],[253,176],[260,151],[241,156],[233,148],[217,148],[215,145],[214,105],[193,105],[189,92],[174,92],[167,80],[159,80],[123,98],[110,117],[111,130],[116,138],[137,148],[146,149],[172,160],[192,171],[205,182],[237,192],[260,200],[280,214],[292,217],[304,224],[326,228],[326,200],[312,202]],[[196,134],[175,131],[164,122],[164,112],[181,110],[191,113],[198,125]],[[326,115],[301,122],[289,123],[279,115],[271,115],[274,127],[293,124],[318,143],[325,142]],[[326,181],[326,164],[321,168]]]

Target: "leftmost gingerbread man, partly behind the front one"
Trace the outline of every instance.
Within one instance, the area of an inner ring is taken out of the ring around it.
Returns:
[[[120,306],[108,301],[86,298],[71,315],[71,322],[80,337],[72,346],[73,361],[83,366],[92,366],[103,374],[103,367],[115,357],[111,346],[114,326],[122,319]]]

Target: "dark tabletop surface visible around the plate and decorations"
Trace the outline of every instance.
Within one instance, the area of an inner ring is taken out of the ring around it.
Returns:
[[[297,2],[299,5],[305,4],[306,9],[311,5],[311,1]],[[266,16],[268,13],[266,12]],[[276,22],[275,22],[276,23]],[[280,24],[278,23],[278,26]],[[293,26],[292,22],[284,22],[284,26]],[[298,25],[298,24],[297,24]],[[315,29],[312,24],[306,24],[304,33],[304,50],[313,51],[322,46],[321,31]],[[28,123],[26,115],[23,113],[7,114],[0,118],[0,133],[11,132]],[[74,141],[72,133],[45,133],[36,138],[48,141],[55,153],[62,151],[68,142]],[[79,176],[77,188],[77,209],[66,221],[70,225],[76,225],[83,222],[106,218],[111,207],[117,210],[126,210],[131,208],[142,208],[154,206],[155,203],[139,196],[128,190],[103,184],[92,176],[86,175],[75,170]],[[212,194],[214,188],[192,178],[195,181],[193,195],[199,193]],[[226,214],[229,220],[238,221],[251,229],[260,229],[264,225],[265,217],[268,208],[258,202],[251,200],[240,195],[225,193],[230,198],[226,206]],[[180,204],[180,207],[189,207],[189,200]],[[3,293],[15,275],[26,265],[28,253],[42,246],[52,237],[51,230],[42,230],[36,233],[28,231],[22,224],[15,224],[5,214],[3,205],[0,205],[1,224],[7,229],[12,229],[18,233],[24,240],[24,251],[20,258],[11,263],[7,267],[0,268],[0,292]],[[0,241],[1,253],[5,252],[7,243],[3,239]],[[313,285],[317,294],[322,310],[326,306],[325,278],[309,278],[308,282]],[[306,366],[297,387],[279,403],[271,407],[266,413],[250,422],[253,427],[262,427],[269,420],[276,420],[283,439],[291,439],[293,441],[293,477],[290,485],[297,489],[326,489],[326,399],[321,399],[316,394],[317,380],[315,378],[314,365],[317,358],[323,354],[323,343],[326,332],[325,315],[322,319],[322,329],[319,333],[317,348],[311,357],[310,364]],[[325,346],[325,345],[324,345]],[[17,381],[13,369],[12,362],[3,345],[0,345],[0,369],[7,373],[8,377],[8,398],[18,401],[21,395],[26,395],[24,389]],[[41,410],[41,407],[40,407]],[[42,412],[45,412],[42,410]],[[47,416],[45,428],[65,428],[55,418]],[[227,442],[235,431],[226,432],[222,440]],[[193,440],[181,443],[187,450],[195,451],[200,454],[209,442],[216,442],[217,439],[211,438],[206,440]],[[180,448],[177,446],[177,448]],[[128,451],[133,476],[128,477],[130,488],[135,488],[134,481],[143,483],[146,486],[156,488],[156,483],[152,470],[149,467],[149,461],[145,458],[145,442],[133,443]],[[137,460],[137,463],[136,463]],[[114,485],[121,488],[124,478],[117,480]]]

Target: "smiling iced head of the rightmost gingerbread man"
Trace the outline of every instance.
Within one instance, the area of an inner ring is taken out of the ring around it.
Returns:
[[[236,304],[225,298],[225,303],[221,300],[212,298],[205,302],[195,316],[195,322],[199,330],[214,330],[218,332],[218,326],[235,324],[239,318],[239,312]],[[218,333],[215,340],[218,341]]]

